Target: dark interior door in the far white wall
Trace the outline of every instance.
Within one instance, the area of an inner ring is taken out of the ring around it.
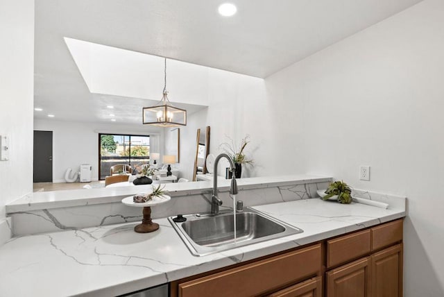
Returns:
[[[53,181],[53,131],[34,131],[34,183]]]

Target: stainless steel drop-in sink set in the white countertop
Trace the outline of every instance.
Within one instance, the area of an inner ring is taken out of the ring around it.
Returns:
[[[208,255],[230,248],[255,244],[303,232],[299,228],[246,207],[236,214],[236,238],[232,212],[221,214],[187,214],[187,221],[169,221],[193,255]]]

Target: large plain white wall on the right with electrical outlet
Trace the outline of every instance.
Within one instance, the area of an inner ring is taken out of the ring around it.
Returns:
[[[266,79],[275,117],[296,114],[276,141],[293,167],[409,198],[407,297],[444,296],[443,32],[444,1],[423,1]]]

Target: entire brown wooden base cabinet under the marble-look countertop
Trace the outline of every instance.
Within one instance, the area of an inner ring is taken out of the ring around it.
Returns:
[[[402,297],[402,219],[176,280],[170,295]]]

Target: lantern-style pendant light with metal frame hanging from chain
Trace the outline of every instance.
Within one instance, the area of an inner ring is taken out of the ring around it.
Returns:
[[[160,127],[187,126],[187,110],[175,108],[167,96],[167,58],[165,58],[164,74],[162,99],[150,108],[143,108],[143,124]]]

